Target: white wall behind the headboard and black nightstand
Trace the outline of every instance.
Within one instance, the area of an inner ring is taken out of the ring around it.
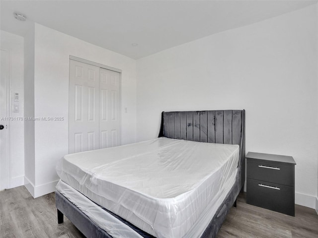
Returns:
[[[161,111],[246,110],[246,152],[293,156],[296,203],[317,195],[317,6],[137,60],[137,141]]]

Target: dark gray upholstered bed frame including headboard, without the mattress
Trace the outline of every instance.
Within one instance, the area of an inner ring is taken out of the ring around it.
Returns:
[[[162,112],[159,137],[184,139],[208,143],[237,144],[240,146],[237,179],[201,238],[215,238],[232,206],[236,207],[237,197],[243,191],[245,181],[245,111],[191,111]],[[64,215],[87,238],[112,238],[90,220],[78,207],[60,192],[56,192],[58,223],[63,223]],[[134,225],[111,213],[130,226],[144,238],[154,238]]]

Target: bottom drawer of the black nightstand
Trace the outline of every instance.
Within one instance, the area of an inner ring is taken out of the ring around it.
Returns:
[[[295,216],[294,187],[247,179],[246,202],[258,207]]]

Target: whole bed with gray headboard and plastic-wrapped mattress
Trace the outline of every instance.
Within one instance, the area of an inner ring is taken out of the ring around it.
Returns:
[[[157,139],[64,157],[58,223],[92,238],[216,237],[243,189],[244,113],[163,112]]]

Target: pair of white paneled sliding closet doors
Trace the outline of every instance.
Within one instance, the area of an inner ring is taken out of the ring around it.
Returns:
[[[120,145],[120,73],[70,60],[69,153]]]

